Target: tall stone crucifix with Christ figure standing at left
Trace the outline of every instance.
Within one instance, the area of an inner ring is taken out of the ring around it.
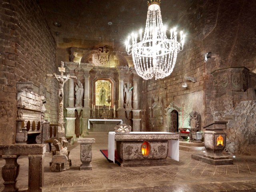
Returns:
[[[63,121],[63,88],[64,84],[68,79],[76,79],[76,76],[70,76],[68,75],[63,75],[63,72],[65,72],[64,68],[64,62],[61,62],[61,67],[59,67],[59,72],[60,75],[56,75],[56,73],[52,74],[46,74],[46,77],[54,77],[58,80],[59,86],[58,86],[58,98],[59,98],[59,116],[58,116],[58,136],[59,137],[64,137],[65,136],[65,130],[64,130],[64,121]]]

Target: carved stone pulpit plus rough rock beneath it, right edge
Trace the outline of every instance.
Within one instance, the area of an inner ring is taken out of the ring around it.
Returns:
[[[255,74],[246,68],[228,68],[213,74],[210,109],[213,120],[228,121],[226,148],[233,154],[256,154]]]

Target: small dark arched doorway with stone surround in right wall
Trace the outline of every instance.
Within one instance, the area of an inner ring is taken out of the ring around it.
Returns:
[[[175,113],[176,117],[180,118],[179,114],[180,114],[181,108],[174,105],[174,103],[171,102],[170,105],[165,109],[165,111],[166,111],[166,126],[167,126],[167,129],[169,130],[169,132],[176,132],[177,130],[174,131],[172,126],[174,124],[177,124],[177,126],[179,127],[179,124],[178,124],[179,120],[176,119],[176,122],[172,122],[174,120],[174,118],[172,118],[172,116]]]

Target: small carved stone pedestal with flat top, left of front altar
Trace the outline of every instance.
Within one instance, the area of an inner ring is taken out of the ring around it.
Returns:
[[[78,138],[77,142],[80,144],[80,159],[82,164],[80,170],[92,170],[92,144],[95,143],[94,138]]]

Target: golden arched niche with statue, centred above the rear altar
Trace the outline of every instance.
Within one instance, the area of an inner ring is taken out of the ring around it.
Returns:
[[[92,81],[92,104],[95,106],[114,106],[115,101],[115,81],[112,78],[95,78]],[[103,95],[104,94],[104,95]],[[110,96],[111,102],[108,103],[108,96]],[[102,102],[102,97],[105,102]]]

